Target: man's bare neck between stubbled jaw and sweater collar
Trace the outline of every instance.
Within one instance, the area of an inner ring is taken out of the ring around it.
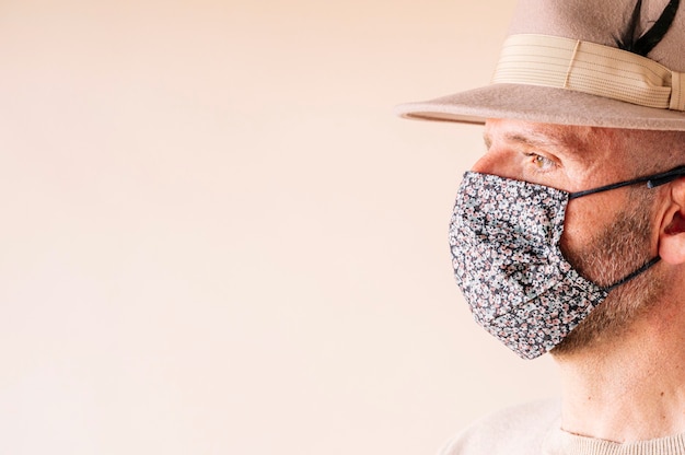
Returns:
[[[671,317],[659,313],[620,337],[555,358],[564,430],[615,442],[685,432],[685,317],[677,308]]]

